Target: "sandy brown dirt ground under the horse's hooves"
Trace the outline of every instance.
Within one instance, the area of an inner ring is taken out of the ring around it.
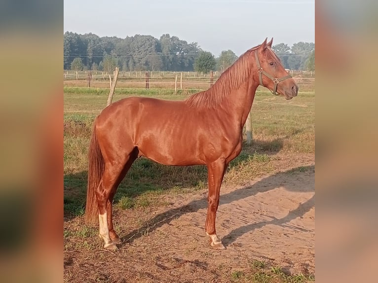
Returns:
[[[167,197],[164,208],[118,210],[123,243],[102,248],[97,236],[65,240],[67,282],[229,282],[232,270],[252,260],[288,274],[314,273],[315,167],[312,158],[285,169],[222,186],[217,234],[225,250],[210,248],[204,231],[207,190]],[[65,222],[77,229],[82,217]],[[93,229],[97,229],[94,227]],[[81,241],[81,242],[80,242]],[[88,248],[89,247],[89,248]]]

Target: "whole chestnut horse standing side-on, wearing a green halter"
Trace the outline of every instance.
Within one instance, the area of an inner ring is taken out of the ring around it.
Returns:
[[[273,40],[273,38],[272,38]],[[129,97],[106,107],[95,119],[89,147],[85,220],[97,222],[104,248],[121,240],[114,232],[115,191],[141,156],[164,165],[206,165],[205,224],[211,247],[224,249],[215,231],[221,183],[228,163],[242,148],[242,129],[257,87],[292,99],[298,86],[271,49],[272,40],[247,50],[208,90],[185,101]]]

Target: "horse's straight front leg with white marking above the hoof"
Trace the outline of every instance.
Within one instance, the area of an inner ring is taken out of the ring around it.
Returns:
[[[205,230],[210,237],[210,245],[216,249],[225,249],[215,231],[215,218],[219,205],[221,184],[226,172],[227,164],[224,160],[217,160],[207,164],[209,194],[207,196],[207,216]]]

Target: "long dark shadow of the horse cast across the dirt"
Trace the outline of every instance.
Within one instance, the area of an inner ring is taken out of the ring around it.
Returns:
[[[314,172],[314,170],[315,170],[315,166],[310,165],[310,166],[298,167],[295,169],[288,170],[286,172],[280,172],[280,173],[265,177],[261,181],[253,184],[252,186],[247,186],[247,187],[232,191],[230,193],[221,195],[219,205],[229,204],[231,202],[238,201],[238,200],[256,195],[257,193],[267,192],[269,190],[275,189],[282,185],[284,185],[285,188],[290,191],[296,191],[296,192],[315,191],[314,183],[313,185],[310,186],[310,188],[303,188],[302,186],[293,186],[293,185],[290,185],[290,183],[285,183],[285,184],[282,183],[283,177],[287,177],[288,175],[293,175],[294,177],[298,172],[308,172],[308,171]],[[228,246],[231,243],[233,243],[237,238],[242,236],[243,234],[248,233],[254,229],[261,228],[267,224],[275,224],[275,225],[282,226],[285,223],[304,215],[311,208],[313,208],[314,205],[315,205],[315,196],[312,196],[306,202],[300,204],[297,209],[289,212],[289,214],[287,214],[283,218],[278,219],[278,218],[272,217],[272,220],[269,220],[269,221],[252,223],[246,226],[236,228],[235,230],[228,233],[228,235],[223,237],[223,243],[225,246]],[[120,244],[120,246],[127,245],[129,243],[132,243],[136,239],[141,238],[145,234],[146,230],[148,230],[149,232],[152,232],[155,229],[163,226],[164,224],[168,224],[172,220],[180,218],[182,215],[186,213],[197,212],[200,209],[206,209],[206,208],[207,208],[207,198],[204,197],[200,200],[191,201],[189,204],[185,206],[170,209],[166,212],[162,212],[154,216],[150,220],[146,221],[142,225],[142,227],[135,229],[129,232],[127,235],[123,236],[122,237],[123,242],[122,244]]]

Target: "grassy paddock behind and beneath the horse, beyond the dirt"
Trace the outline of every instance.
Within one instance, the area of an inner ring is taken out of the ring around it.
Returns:
[[[140,95],[184,100],[161,90],[116,90],[113,101]],[[76,217],[84,213],[87,183],[87,152],[95,116],[104,108],[108,90],[64,88],[64,211]],[[272,160],[278,152],[314,153],[314,93],[293,100],[259,91],[252,107],[253,145],[244,145],[240,155],[227,169],[224,184],[246,180],[274,170]],[[303,107],[306,106],[306,107]],[[297,168],[301,171],[301,168]],[[305,168],[303,168],[305,170]],[[178,194],[207,187],[205,166],[163,166],[141,158],[134,162],[119,185],[114,198],[119,209],[162,206],[164,194]]]

